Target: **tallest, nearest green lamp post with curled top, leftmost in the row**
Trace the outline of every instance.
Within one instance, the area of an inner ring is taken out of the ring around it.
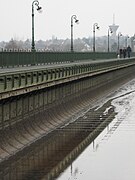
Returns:
[[[35,41],[34,41],[34,5],[37,6],[37,11],[41,12],[42,7],[39,6],[38,0],[32,2],[32,44],[31,51],[35,51]]]

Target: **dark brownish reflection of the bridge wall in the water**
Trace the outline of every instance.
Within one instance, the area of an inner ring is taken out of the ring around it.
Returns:
[[[0,177],[3,180],[49,180],[57,178],[68,166],[76,177],[79,170],[73,170],[72,163],[91,142],[94,151],[98,150],[99,144],[94,144],[94,139],[115,115],[110,101],[97,110],[91,109],[77,121],[55,130],[1,163]]]

